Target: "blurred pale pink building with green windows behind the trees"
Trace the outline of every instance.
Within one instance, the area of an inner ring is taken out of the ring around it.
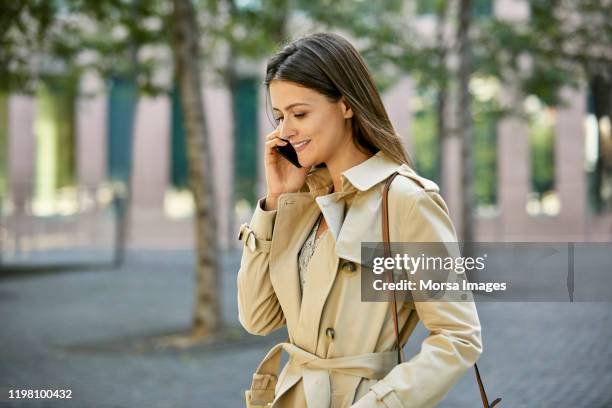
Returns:
[[[517,4],[498,0],[483,12],[528,18],[528,10]],[[433,30],[426,15],[419,24],[425,32]],[[265,193],[262,138],[273,126],[261,85],[264,71],[263,61],[240,67],[233,93],[212,83],[203,89],[223,248],[237,244],[238,226]],[[34,96],[0,97],[2,251],[112,246],[117,219],[113,197],[128,184],[128,245],[191,248],[193,204],[176,92],[139,98],[125,79],[89,76],[78,90],[73,88],[48,83]],[[612,145],[610,117],[595,115],[589,90],[566,90],[569,104],[558,108],[482,78],[474,80],[472,91],[476,239],[612,239],[612,213],[601,205],[610,202],[612,192],[605,183],[593,189],[593,180],[609,177],[597,162],[603,156],[598,149],[606,145],[597,140]],[[487,115],[492,98],[522,106],[528,119]],[[430,92],[405,77],[384,92],[383,100],[418,171],[445,180],[442,194],[458,227],[459,144],[452,138],[443,146],[437,142]],[[237,119],[233,125],[232,112]],[[607,125],[597,126],[602,120]],[[599,135],[598,129],[606,126],[607,135]],[[442,170],[436,163],[440,149],[446,163]]]

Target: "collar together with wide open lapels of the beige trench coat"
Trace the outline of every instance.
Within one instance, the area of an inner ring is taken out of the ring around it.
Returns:
[[[435,186],[418,176],[408,165],[395,163],[378,152],[342,173],[342,191],[330,193],[333,182],[328,169],[322,167],[308,174],[300,192],[284,193],[279,198],[274,229],[282,231],[283,238],[273,239],[271,243],[270,279],[283,306],[290,337],[298,335],[302,339],[300,344],[310,348],[311,352],[316,347],[315,334],[340,259],[361,263],[361,243],[382,241],[380,183],[395,171],[414,179],[424,188]],[[309,298],[305,293],[302,299],[298,253],[319,212],[323,213],[331,235],[325,237],[322,247],[317,250],[327,249],[335,256],[311,259],[314,263],[310,271],[316,274],[311,282],[318,286],[309,291]],[[300,320],[302,306],[317,312],[308,313]]]

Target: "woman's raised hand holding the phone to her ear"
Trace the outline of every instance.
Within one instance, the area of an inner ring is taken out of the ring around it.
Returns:
[[[286,142],[279,138],[280,125],[266,136],[265,169],[266,169],[266,210],[275,210],[278,197],[283,193],[294,193],[304,185],[308,169],[295,167],[279,152],[275,146],[285,146]]]

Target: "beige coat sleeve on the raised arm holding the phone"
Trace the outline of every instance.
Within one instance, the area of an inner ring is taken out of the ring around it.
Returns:
[[[238,319],[251,334],[266,335],[285,324],[270,281],[270,244],[276,211],[265,211],[258,201],[249,224],[240,228],[243,242],[238,271]]]

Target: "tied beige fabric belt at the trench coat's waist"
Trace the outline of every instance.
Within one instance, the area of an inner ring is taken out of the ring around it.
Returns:
[[[287,391],[281,390],[275,396],[278,369],[282,351],[289,354],[287,364],[298,368],[303,380],[304,394],[308,408],[329,408],[331,404],[331,371],[355,377],[380,380],[397,363],[395,351],[360,354],[348,357],[321,358],[297,347],[292,343],[275,345],[264,357],[253,374],[251,401],[255,405],[268,405],[277,401]],[[298,381],[299,378],[298,377]],[[297,381],[296,381],[297,382]]]

